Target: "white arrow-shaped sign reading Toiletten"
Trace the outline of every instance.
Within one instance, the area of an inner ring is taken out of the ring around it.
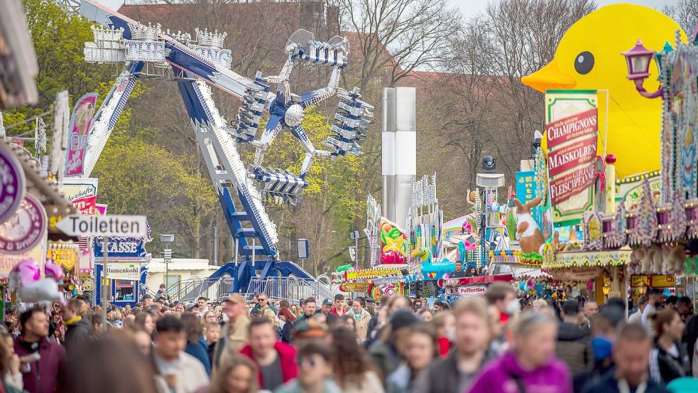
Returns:
[[[56,227],[68,236],[148,236],[144,215],[70,215]]]

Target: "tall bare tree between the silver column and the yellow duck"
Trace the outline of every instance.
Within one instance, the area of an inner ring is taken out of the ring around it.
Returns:
[[[543,96],[520,83],[542,68],[574,22],[594,10],[591,0],[501,0],[469,19],[451,38],[459,48],[442,63],[446,93],[441,113],[445,147],[454,147],[471,181],[484,154],[513,176],[528,156],[535,129],[542,129]],[[511,177],[509,177],[511,178]]]

